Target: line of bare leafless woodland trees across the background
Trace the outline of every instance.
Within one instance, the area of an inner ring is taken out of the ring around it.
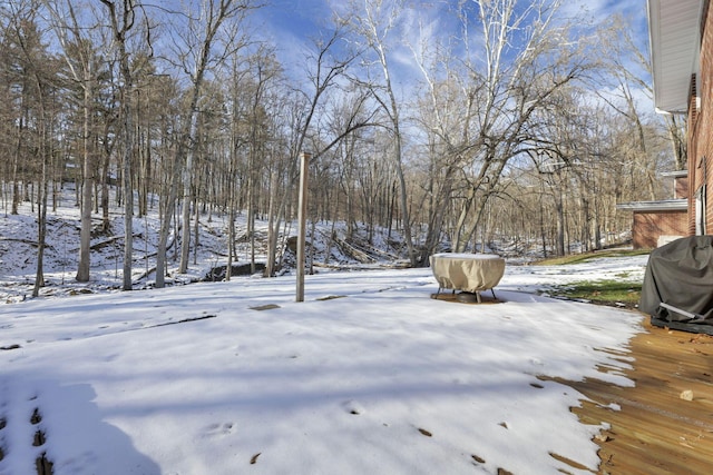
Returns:
[[[260,34],[257,0],[12,0],[0,6],[0,182],[6,212],[30,201],[43,285],[48,209],[67,181],[81,209],[78,281],[92,217],[160,217],[156,286],[202,216],[268,222],[266,275],[296,216],[312,156],[310,219],[403,240],[412,266],[507,238],[564,255],[631,227],[615,204],[661,198],[685,162],[685,123],[641,110],[651,95],[631,26],[568,16],[561,0],[336,2],[286,63]],[[643,12],[642,12],[643,14]],[[675,144],[672,147],[671,144]],[[110,192],[115,190],[115,192]],[[111,202],[115,200],[116,202]],[[119,232],[119,230],[111,230]]]

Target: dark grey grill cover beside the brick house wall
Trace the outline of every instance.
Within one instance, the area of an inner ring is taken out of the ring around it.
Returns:
[[[700,315],[697,325],[713,325],[713,236],[676,239],[651,253],[638,308],[661,320],[690,321],[661,303]]]

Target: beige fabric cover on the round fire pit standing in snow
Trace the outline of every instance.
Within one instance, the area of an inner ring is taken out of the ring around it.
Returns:
[[[494,254],[434,254],[430,263],[439,287],[453,290],[487,290],[505,274],[505,259]]]

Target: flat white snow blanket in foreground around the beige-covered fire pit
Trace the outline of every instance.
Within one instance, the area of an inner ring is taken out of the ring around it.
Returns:
[[[549,378],[632,385],[642,317],[533,291],[645,259],[511,266],[479,306],[430,269],[2,305],[0,474],[588,473],[600,427]]]

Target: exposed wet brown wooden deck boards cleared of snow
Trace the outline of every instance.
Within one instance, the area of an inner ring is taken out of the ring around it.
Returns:
[[[622,358],[634,358],[626,376],[635,387],[561,382],[590,399],[573,408],[584,424],[611,427],[595,438],[598,473],[713,474],[713,337],[653,327],[647,319],[629,348]]]

